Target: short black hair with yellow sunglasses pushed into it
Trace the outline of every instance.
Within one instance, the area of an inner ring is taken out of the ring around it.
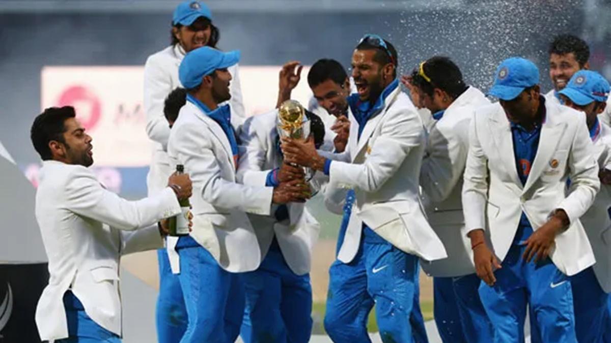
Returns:
[[[420,74],[420,65],[412,71],[412,84],[428,96],[433,96],[435,88],[448,93],[452,99],[458,98],[467,89],[458,65],[449,57],[433,56],[422,65],[425,76]]]

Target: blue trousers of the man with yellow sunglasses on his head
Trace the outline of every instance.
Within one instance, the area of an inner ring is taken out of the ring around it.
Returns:
[[[491,342],[492,323],[481,304],[475,274],[433,278],[434,314],[444,342]]]

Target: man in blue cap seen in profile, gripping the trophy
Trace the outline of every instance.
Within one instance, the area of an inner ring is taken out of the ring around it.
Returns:
[[[180,286],[188,327],[181,343],[234,342],[244,316],[240,272],[257,269],[261,253],[246,212],[269,215],[272,203],[303,200],[301,180],[277,187],[236,183],[238,142],[229,105],[227,68],[238,51],[204,46],[186,54],[178,69],[187,102],[172,126],[170,160],[191,175],[194,213],[190,236],[178,239]]]

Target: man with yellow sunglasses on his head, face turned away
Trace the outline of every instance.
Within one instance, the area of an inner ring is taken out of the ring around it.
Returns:
[[[467,86],[458,66],[434,56],[409,76],[412,93],[433,114],[420,187],[428,222],[444,243],[447,259],[422,263],[433,276],[434,318],[444,342],[491,342],[492,324],[477,293],[480,278],[463,235],[461,191],[469,151],[469,123],[477,107],[490,104],[475,87]]]

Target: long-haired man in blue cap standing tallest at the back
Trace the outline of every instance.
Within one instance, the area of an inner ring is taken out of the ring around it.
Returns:
[[[147,176],[148,194],[158,193],[164,180],[172,173],[167,157],[167,139],[170,128],[164,118],[164,99],[177,87],[178,65],[185,54],[200,46],[216,47],[219,30],[212,23],[212,14],[207,5],[199,1],[181,2],[174,10],[170,46],[148,57],[144,67],[144,109],[147,117],[146,131],[155,142],[150,171]],[[238,68],[229,68],[231,82],[230,106],[232,122],[238,127],[244,118],[244,106],[238,80]],[[174,250],[175,237],[168,237],[169,249],[158,250],[159,296],[156,308],[157,338],[160,343],[180,341],[186,330],[186,308],[178,283],[178,255]],[[171,262],[170,262],[171,261]]]

